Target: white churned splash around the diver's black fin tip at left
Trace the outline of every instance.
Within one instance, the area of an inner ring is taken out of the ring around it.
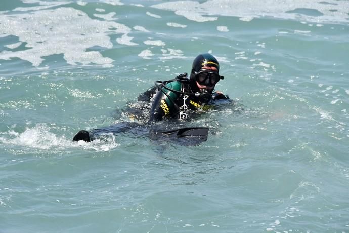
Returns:
[[[73,135],[72,135],[73,136]],[[96,151],[107,151],[118,147],[115,137],[110,136],[107,140],[95,140],[87,143],[84,141],[73,142],[71,138],[57,135],[51,132],[46,124],[37,124],[35,127],[26,128],[24,132],[16,132],[10,129],[8,132],[0,132],[0,143],[14,145],[22,151],[35,149],[36,152],[49,150],[50,153],[60,153],[68,148],[82,147]]]

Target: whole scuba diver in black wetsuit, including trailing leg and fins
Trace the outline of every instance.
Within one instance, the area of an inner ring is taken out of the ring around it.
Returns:
[[[198,55],[194,61],[190,77],[187,73],[180,74],[176,79],[169,81],[156,81],[155,86],[148,89],[138,97],[143,105],[139,109],[130,107],[130,115],[137,119],[137,110],[144,112],[148,108],[150,114],[147,122],[140,125],[135,122],[121,122],[111,126],[94,129],[90,132],[81,130],[73,138],[73,141],[84,140],[90,142],[106,133],[122,133],[125,131],[137,131],[144,126],[151,128],[154,122],[163,119],[190,119],[193,112],[207,111],[215,107],[217,100],[226,100],[228,103],[235,103],[227,95],[215,92],[214,87],[224,77],[219,74],[220,64],[217,59],[209,53]],[[149,109],[149,106],[151,107]],[[127,115],[127,112],[125,113]],[[208,128],[195,127],[183,128],[170,131],[157,131],[155,134],[174,135],[177,138],[194,137],[199,142],[207,140]]]

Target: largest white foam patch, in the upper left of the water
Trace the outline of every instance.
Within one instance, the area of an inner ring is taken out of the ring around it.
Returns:
[[[108,20],[113,16],[104,15]],[[14,35],[18,36],[20,42],[27,43],[26,50],[0,52],[0,59],[17,57],[36,67],[42,63],[42,57],[54,54],[63,54],[64,59],[71,65],[93,63],[112,66],[113,59],[103,57],[98,51],[86,51],[95,46],[112,48],[113,44],[108,36],[111,31],[123,34],[118,38],[118,43],[137,45],[130,41],[132,37],[127,36],[131,31],[129,27],[112,21],[91,19],[86,13],[74,8],[0,14],[0,22],[1,37]],[[12,47],[13,43],[8,46]]]

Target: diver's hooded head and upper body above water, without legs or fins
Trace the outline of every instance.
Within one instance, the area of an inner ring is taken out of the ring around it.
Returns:
[[[156,81],[150,90],[153,103],[150,112],[151,121],[163,118],[189,118],[188,110],[208,110],[213,102],[229,99],[221,92],[214,92],[214,86],[224,77],[219,74],[220,64],[211,54],[200,54],[193,62],[190,79],[187,73],[180,74],[174,80]]]

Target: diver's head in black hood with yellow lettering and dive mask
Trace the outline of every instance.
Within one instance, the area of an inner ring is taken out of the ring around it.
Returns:
[[[224,78],[219,75],[219,70],[220,64],[211,54],[205,53],[197,56],[190,73],[190,84],[193,91],[212,93],[216,83]]]

